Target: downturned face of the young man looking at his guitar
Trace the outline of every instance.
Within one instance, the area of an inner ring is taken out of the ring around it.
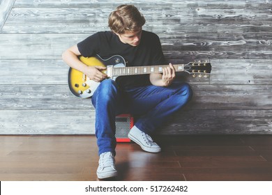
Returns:
[[[139,42],[141,41],[142,28],[139,29],[138,31],[133,31],[133,32],[126,31],[125,33],[122,33],[122,34],[116,33],[116,35],[119,36],[121,42],[135,47],[139,45]]]

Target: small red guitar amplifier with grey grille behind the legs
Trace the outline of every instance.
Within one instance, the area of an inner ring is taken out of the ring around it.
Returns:
[[[134,118],[130,114],[120,114],[115,117],[115,137],[117,142],[130,142],[128,133],[134,125]]]

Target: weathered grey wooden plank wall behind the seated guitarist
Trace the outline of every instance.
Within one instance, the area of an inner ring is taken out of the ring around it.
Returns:
[[[2,2],[2,1],[1,1]],[[89,99],[73,97],[61,53],[123,1],[17,0],[0,32],[0,134],[93,134]],[[126,1],[172,63],[209,59],[190,104],[160,134],[272,134],[272,1]],[[3,7],[1,7],[1,10]]]

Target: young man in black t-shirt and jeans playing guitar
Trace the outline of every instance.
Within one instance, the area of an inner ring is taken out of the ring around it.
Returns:
[[[130,113],[141,116],[130,130],[128,137],[142,150],[159,153],[160,146],[150,135],[181,109],[191,98],[188,84],[173,83],[175,70],[170,63],[163,74],[133,75],[107,79],[100,66],[87,66],[78,56],[95,56],[103,59],[121,55],[128,66],[162,65],[165,63],[160,40],[155,33],[142,30],[144,16],[133,5],[121,5],[109,15],[111,31],[98,32],[63,52],[63,60],[72,68],[84,72],[100,85],[93,93],[91,102],[96,108],[96,137],[98,178],[116,176],[114,157],[116,139],[115,116]]]

